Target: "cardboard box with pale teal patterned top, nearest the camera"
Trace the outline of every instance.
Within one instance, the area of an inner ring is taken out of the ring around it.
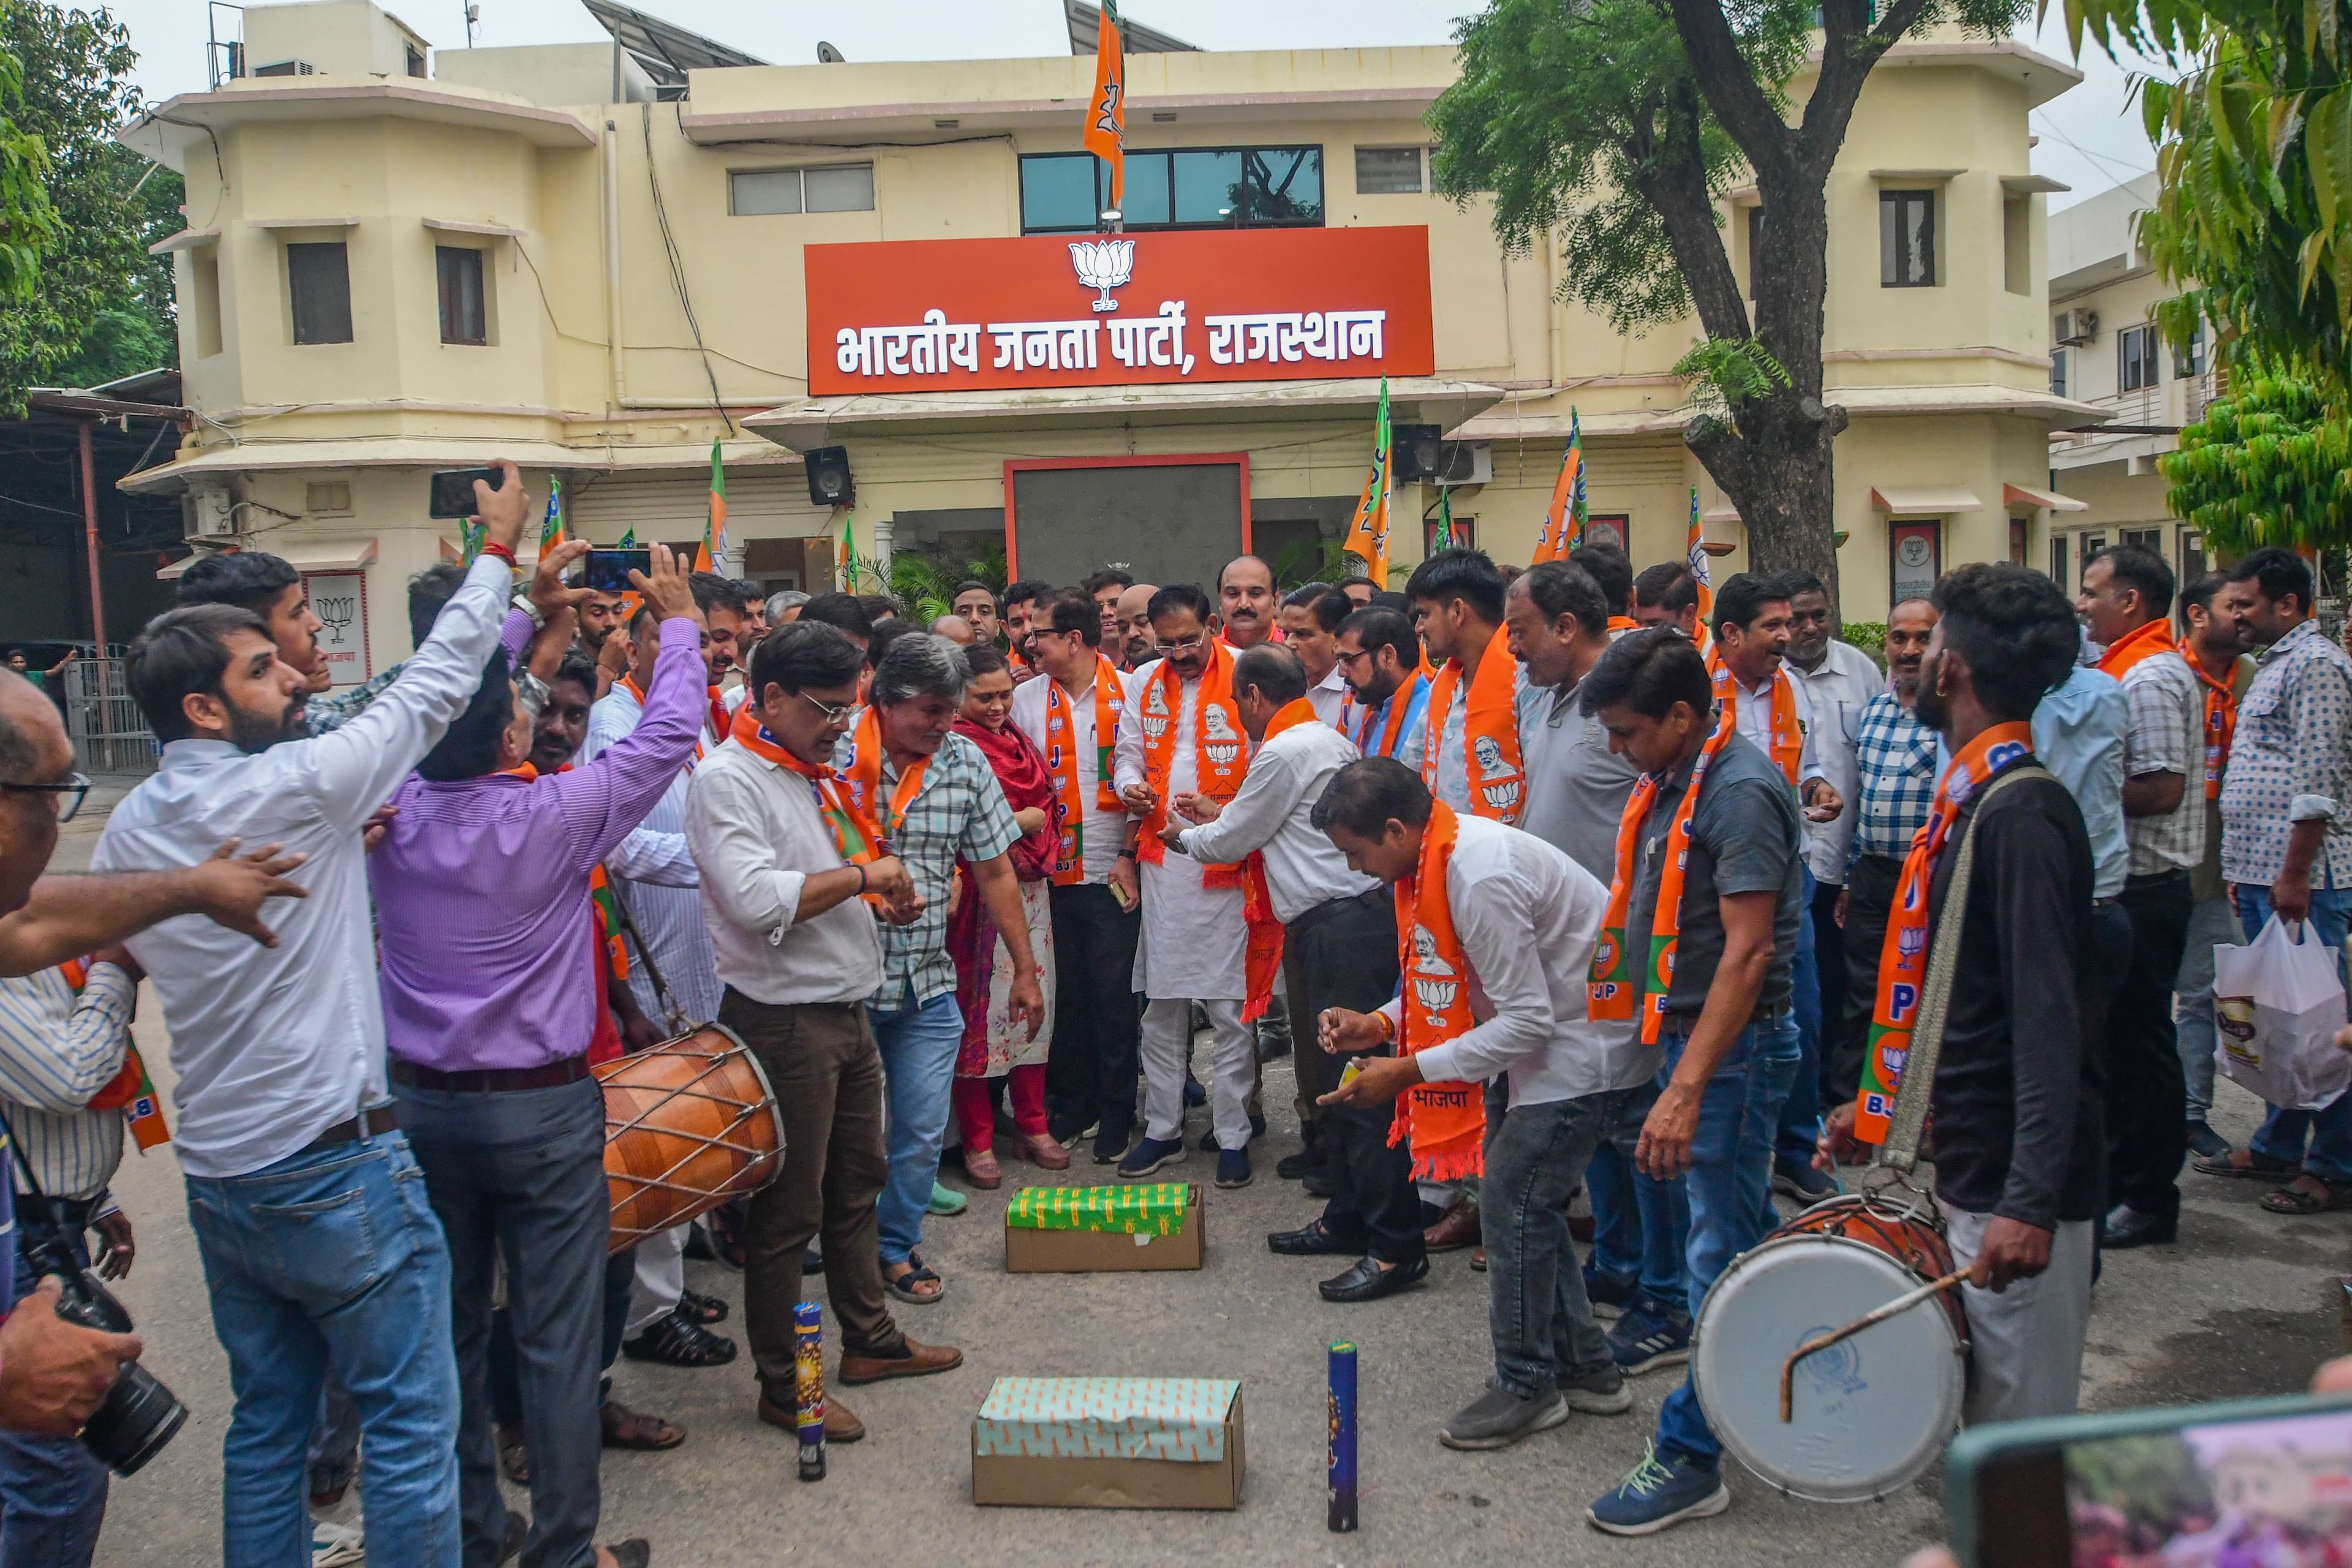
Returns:
[[[983,1507],[1235,1509],[1242,1472],[1225,1378],[997,1378],[971,1418]]]

